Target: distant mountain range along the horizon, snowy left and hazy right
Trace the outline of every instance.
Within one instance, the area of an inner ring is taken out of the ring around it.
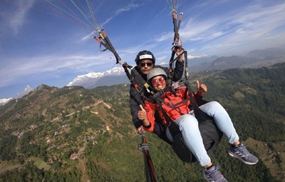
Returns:
[[[246,56],[188,56],[188,67],[190,73],[210,70],[225,70],[233,68],[260,68],[262,66],[271,66],[276,63],[285,62],[285,49],[269,48],[250,51]],[[168,66],[163,62],[161,66]],[[90,72],[88,74],[77,76],[67,86],[83,86],[86,89],[92,89],[96,86],[111,86],[115,84],[130,83],[122,67],[114,67],[105,72]],[[25,88],[14,98],[24,96],[31,88]],[[11,101],[13,98],[0,99],[0,106]]]

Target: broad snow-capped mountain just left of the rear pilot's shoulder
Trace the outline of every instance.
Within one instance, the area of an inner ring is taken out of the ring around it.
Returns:
[[[100,81],[103,78],[106,79],[108,77],[114,78],[109,78],[106,81]],[[88,74],[77,76],[76,79],[73,79],[73,81],[71,81],[67,86],[84,86],[86,89],[90,89],[95,86],[121,84],[126,82],[127,80],[128,79],[125,76],[124,69],[122,67],[115,67],[105,72],[90,72]]]

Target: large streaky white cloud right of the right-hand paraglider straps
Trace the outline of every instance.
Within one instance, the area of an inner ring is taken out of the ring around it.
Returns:
[[[193,41],[199,44],[196,51],[207,54],[262,49],[264,43],[266,46],[281,45],[280,40],[284,40],[285,4],[268,6],[254,3],[235,14],[224,14],[224,17],[212,16],[199,21],[189,19],[180,34],[188,43],[190,41],[189,45],[193,45]]]

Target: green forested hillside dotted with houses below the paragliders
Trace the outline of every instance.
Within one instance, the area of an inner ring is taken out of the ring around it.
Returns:
[[[259,157],[247,166],[222,139],[212,161],[228,181],[285,181],[285,64],[190,74],[207,84],[243,143]],[[38,86],[0,107],[0,181],[145,181],[140,137],[128,107],[129,85],[84,89]],[[198,163],[182,163],[147,133],[158,181],[203,181]]]

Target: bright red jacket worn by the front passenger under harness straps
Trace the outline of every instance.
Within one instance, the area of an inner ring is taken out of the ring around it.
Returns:
[[[181,113],[189,113],[190,108],[188,106],[190,105],[190,101],[187,101],[185,103],[181,103],[179,106],[176,106],[175,109],[171,107],[171,105],[175,105],[176,103],[179,103],[180,101],[183,101],[185,98],[185,87],[180,87],[176,91],[176,96],[172,91],[167,91],[163,94],[162,99],[170,104],[170,106],[165,103],[162,103],[162,108],[165,110],[168,116],[175,121],[175,119],[179,118],[182,114]],[[186,98],[189,98],[189,94],[186,94]],[[153,128],[155,126],[155,112],[158,111],[160,114],[160,118],[162,118],[163,123],[167,123],[165,120],[165,117],[162,114],[162,111],[160,111],[159,106],[156,103],[151,103],[150,101],[145,102],[145,111],[147,112],[147,119],[150,121],[150,128],[145,128],[146,131],[153,131]]]

